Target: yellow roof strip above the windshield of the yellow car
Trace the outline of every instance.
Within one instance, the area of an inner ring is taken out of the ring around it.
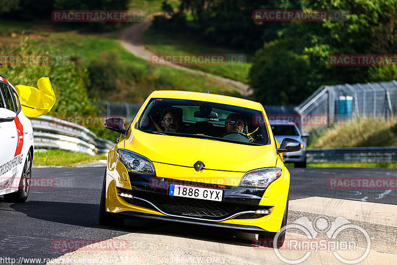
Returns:
[[[239,107],[262,111],[262,105],[258,102],[247,99],[230,97],[230,96],[216,95],[211,93],[200,93],[200,92],[178,91],[178,90],[156,90],[150,95],[150,97],[199,100],[199,101],[221,103],[221,104],[239,106]]]

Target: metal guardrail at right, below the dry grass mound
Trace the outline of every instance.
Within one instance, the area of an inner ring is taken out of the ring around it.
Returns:
[[[307,162],[397,162],[397,146],[307,149]]]

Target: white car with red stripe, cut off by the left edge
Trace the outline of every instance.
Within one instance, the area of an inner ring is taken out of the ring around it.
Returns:
[[[24,202],[29,195],[33,128],[14,86],[0,75],[0,196]]]

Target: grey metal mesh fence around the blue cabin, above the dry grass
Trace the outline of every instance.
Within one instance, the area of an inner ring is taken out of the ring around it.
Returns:
[[[397,81],[324,85],[295,108],[301,116],[328,117],[327,126],[357,117],[394,117],[397,112]],[[301,127],[315,136],[327,126]]]

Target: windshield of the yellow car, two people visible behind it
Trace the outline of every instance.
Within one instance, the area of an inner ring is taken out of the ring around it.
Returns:
[[[261,111],[226,104],[154,98],[138,121],[146,133],[264,145],[268,133]]]

